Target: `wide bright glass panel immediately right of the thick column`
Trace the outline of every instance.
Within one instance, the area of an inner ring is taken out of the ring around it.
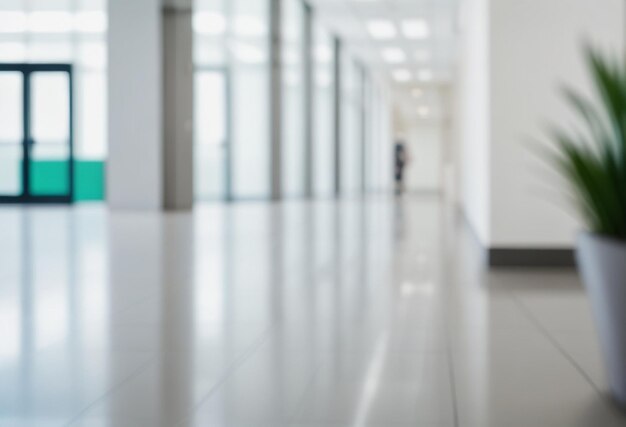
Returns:
[[[270,196],[269,12],[269,0],[194,2],[197,199]]]

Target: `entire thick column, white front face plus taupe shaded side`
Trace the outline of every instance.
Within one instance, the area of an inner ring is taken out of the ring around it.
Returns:
[[[111,209],[193,204],[191,1],[168,3],[108,2]]]

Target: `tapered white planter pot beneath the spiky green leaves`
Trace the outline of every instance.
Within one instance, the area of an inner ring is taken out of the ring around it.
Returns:
[[[578,266],[591,300],[613,396],[626,405],[626,243],[582,233]]]

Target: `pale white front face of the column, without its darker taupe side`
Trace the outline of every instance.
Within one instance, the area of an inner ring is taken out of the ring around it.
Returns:
[[[108,4],[107,200],[113,209],[160,209],[161,0]]]

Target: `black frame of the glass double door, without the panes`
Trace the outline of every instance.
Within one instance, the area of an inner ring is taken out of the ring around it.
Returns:
[[[23,120],[23,139],[22,139],[22,194],[10,196],[0,194],[0,203],[55,203],[68,204],[74,200],[74,84],[73,72],[71,64],[17,64],[3,63],[0,64],[0,73],[2,72],[19,72],[23,77],[22,88],[22,120]],[[68,75],[69,84],[69,154],[67,159],[68,173],[68,193],[59,195],[33,195],[30,194],[30,150],[35,143],[31,136],[30,118],[31,118],[31,100],[30,100],[30,76],[38,72],[65,72]]]

